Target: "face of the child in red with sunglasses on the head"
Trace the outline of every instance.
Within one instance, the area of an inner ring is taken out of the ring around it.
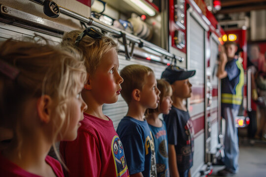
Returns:
[[[115,103],[121,91],[123,78],[118,73],[119,61],[115,49],[100,59],[99,66],[91,79],[92,91],[100,104]]]

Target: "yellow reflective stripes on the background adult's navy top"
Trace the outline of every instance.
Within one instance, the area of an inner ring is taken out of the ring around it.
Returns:
[[[242,103],[242,88],[244,86],[244,69],[239,61],[235,61],[238,69],[240,70],[239,82],[235,87],[235,94],[222,93],[222,103],[241,105]]]

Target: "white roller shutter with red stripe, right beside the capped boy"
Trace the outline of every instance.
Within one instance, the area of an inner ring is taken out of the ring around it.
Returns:
[[[194,127],[194,156],[192,176],[199,172],[204,165],[204,79],[205,79],[205,53],[204,53],[204,29],[193,18],[187,16],[188,29],[188,70],[196,70],[194,77],[189,81],[193,85],[193,95],[189,99],[189,111]]]

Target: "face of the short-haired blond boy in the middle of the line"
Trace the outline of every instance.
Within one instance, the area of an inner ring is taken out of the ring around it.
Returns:
[[[140,102],[146,108],[155,109],[160,101],[160,90],[157,88],[157,81],[153,73],[145,76],[145,84],[141,90]]]

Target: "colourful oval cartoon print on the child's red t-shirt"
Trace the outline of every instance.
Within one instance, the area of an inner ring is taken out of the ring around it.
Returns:
[[[117,135],[115,135],[112,140],[112,154],[114,158],[116,177],[121,177],[127,172],[128,166],[122,142]]]

